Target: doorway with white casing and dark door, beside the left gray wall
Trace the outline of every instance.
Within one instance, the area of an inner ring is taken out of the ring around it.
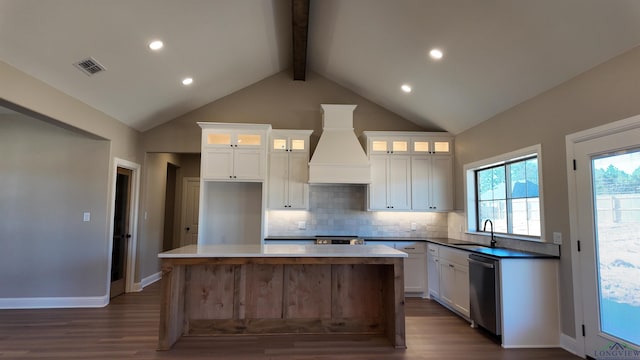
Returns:
[[[114,160],[109,298],[133,291],[140,165]]]

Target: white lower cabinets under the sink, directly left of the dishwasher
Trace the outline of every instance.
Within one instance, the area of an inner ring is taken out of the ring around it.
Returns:
[[[469,318],[469,253],[447,246],[429,244],[429,295]],[[432,274],[431,269],[437,269]]]

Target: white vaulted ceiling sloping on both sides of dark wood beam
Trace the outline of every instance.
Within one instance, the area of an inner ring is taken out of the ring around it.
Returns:
[[[457,134],[639,44],[640,0],[311,0],[307,69]],[[291,53],[290,0],[0,0],[0,60],[142,131]]]

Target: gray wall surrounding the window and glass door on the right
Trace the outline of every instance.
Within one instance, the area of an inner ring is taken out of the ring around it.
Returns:
[[[565,136],[640,113],[640,48],[540,94],[455,139],[456,207],[464,207],[464,164],[542,144],[544,236],[559,231],[562,332],[575,336]]]

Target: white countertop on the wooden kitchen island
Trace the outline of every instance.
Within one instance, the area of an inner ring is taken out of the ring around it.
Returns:
[[[407,257],[386,245],[187,245],[159,258],[193,257]]]

